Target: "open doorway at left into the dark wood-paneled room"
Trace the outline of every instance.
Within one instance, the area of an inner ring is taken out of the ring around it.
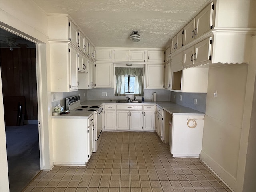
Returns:
[[[40,172],[36,44],[0,29],[10,192]]]

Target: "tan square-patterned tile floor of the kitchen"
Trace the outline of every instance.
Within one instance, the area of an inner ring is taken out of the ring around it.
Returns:
[[[172,158],[154,132],[103,132],[86,166],[42,171],[25,192],[231,192],[198,158]]]

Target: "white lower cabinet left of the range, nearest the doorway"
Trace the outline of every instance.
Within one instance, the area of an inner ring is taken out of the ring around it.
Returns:
[[[86,118],[52,118],[54,165],[86,165],[88,162],[88,126]]]

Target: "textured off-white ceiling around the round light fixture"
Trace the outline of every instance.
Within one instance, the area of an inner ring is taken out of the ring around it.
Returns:
[[[170,36],[206,0],[34,0],[46,12],[69,14],[95,46],[154,47]],[[138,31],[140,42],[129,35]]]

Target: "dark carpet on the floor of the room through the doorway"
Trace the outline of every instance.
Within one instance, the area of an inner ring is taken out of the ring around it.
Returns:
[[[10,192],[21,192],[40,172],[38,125],[6,126]]]

